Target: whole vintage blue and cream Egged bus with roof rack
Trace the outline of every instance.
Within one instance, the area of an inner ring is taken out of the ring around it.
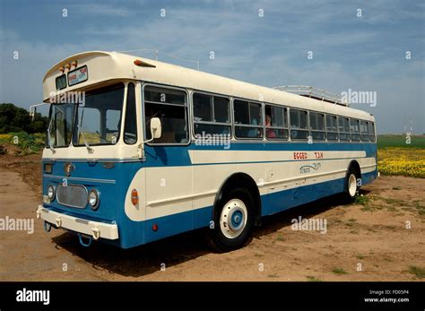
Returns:
[[[82,246],[140,246],[195,229],[216,250],[261,218],[377,178],[375,118],[309,87],[267,88],[117,52],[52,66],[44,228]]]

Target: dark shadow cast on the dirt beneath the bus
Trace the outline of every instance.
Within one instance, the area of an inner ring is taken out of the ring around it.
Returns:
[[[360,194],[366,195],[368,193],[366,190],[360,190]],[[299,216],[303,219],[310,218],[342,204],[341,196],[336,194],[294,207],[288,211],[266,216],[262,220],[263,225],[254,230],[251,240],[262,238],[279,229],[291,226],[291,220],[298,219]],[[126,277],[141,277],[160,271],[163,263],[169,268],[212,253],[212,250],[206,246],[203,232],[200,230],[186,232],[130,249],[121,249],[104,243],[92,243],[90,247],[83,247],[78,238],[69,232],[52,238],[52,240],[56,243],[56,248],[65,248],[74,256],[91,263],[93,269]],[[248,244],[250,241],[248,241]]]

